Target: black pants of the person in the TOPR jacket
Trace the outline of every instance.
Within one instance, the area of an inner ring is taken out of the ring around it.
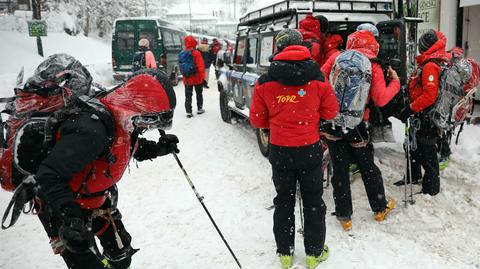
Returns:
[[[307,255],[319,256],[325,243],[323,202],[323,150],[320,142],[304,147],[270,145],[269,161],[277,196],[273,199],[273,232],[277,253],[289,255],[295,241],[295,200],[297,182],[303,200],[304,245]]]

